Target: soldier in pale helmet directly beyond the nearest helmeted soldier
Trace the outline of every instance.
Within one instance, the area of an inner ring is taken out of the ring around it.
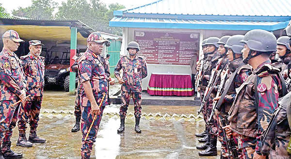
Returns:
[[[229,60],[228,70],[230,72],[229,79],[226,81],[225,88],[227,85],[230,85],[228,90],[226,92],[226,96],[224,99],[222,99],[222,104],[217,105],[217,107],[220,107],[219,111],[216,111],[217,121],[218,121],[218,140],[221,142],[221,159],[228,159],[227,147],[226,147],[226,138],[224,136],[224,132],[222,129],[222,123],[221,119],[225,118],[225,116],[228,116],[228,111],[234,101],[234,97],[236,95],[235,89],[240,87],[242,83],[246,80],[248,77],[248,73],[251,70],[250,65],[243,65],[242,62],[242,48],[243,43],[240,43],[242,40],[243,35],[234,35],[231,36],[227,42],[225,47],[227,48],[227,58]],[[237,71],[236,71],[237,70]],[[233,74],[234,73],[234,74]],[[232,76],[234,76],[232,78]],[[232,81],[230,81],[232,80]],[[214,98],[213,101],[220,100],[221,97]],[[219,102],[217,103],[219,104]],[[234,138],[235,143],[237,144],[237,139]]]

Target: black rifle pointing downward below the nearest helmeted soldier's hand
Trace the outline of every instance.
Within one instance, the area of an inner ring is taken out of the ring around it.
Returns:
[[[221,123],[222,123],[223,127],[226,127],[226,125],[228,125],[226,117],[221,119]],[[227,147],[228,155],[232,156],[233,159],[239,159],[238,151],[237,151],[237,147],[234,143],[234,139],[232,137],[227,138],[225,129],[223,129],[223,133],[224,133],[224,136],[226,138],[226,147]]]

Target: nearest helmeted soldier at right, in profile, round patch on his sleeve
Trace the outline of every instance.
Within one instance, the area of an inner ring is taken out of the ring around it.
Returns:
[[[237,89],[237,96],[229,110],[230,125],[239,135],[239,149],[244,159],[264,158],[261,154],[261,135],[270,122],[278,98],[286,93],[280,70],[271,65],[269,56],[276,50],[272,33],[255,29],[248,31],[242,41],[243,62],[253,68],[252,74]],[[283,85],[282,85],[283,84]]]

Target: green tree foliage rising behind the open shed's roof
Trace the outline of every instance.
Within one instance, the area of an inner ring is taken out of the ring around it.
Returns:
[[[31,6],[19,7],[12,14],[34,19],[80,20],[94,30],[122,35],[122,29],[109,27],[109,21],[114,17],[114,10],[123,8],[125,6],[118,3],[109,4],[107,8],[100,0],[67,0],[60,6],[52,0],[32,0]]]

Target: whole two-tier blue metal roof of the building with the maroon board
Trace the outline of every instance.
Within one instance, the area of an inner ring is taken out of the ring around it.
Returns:
[[[156,0],[114,11],[111,27],[269,31],[291,19],[290,0]]]

